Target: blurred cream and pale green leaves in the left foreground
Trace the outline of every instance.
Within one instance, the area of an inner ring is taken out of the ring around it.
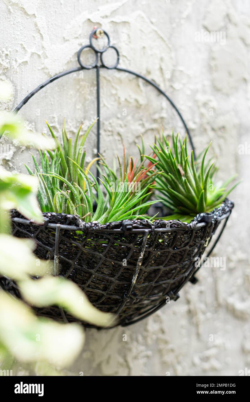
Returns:
[[[26,146],[51,147],[45,137],[24,129],[16,116],[1,112],[0,135],[5,131]],[[18,285],[22,298],[29,305],[57,305],[78,320],[111,325],[112,314],[93,307],[73,282],[54,277],[51,261],[35,257],[35,242],[11,236],[9,211],[12,208],[18,208],[22,215],[37,224],[43,223],[37,202],[38,186],[37,177],[12,174],[0,167],[0,274]],[[39,279],[34,281],[35,278]],[[16,360],[29,363],[40,375],[59,375],[58,369],[71,364],[80,353],[84,343],[83,327],[38,318],[24,301],[0,290],[1,375],[10,373]]]

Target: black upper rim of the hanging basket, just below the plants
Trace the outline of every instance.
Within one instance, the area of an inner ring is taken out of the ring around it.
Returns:
[[[211,222],[220,222],[226,219],[232,209],[234,208],[234,203],[229,199],[225,199],[220,207],[213,209],[209,213],[198,213],[194,219],[191,220],[189,224],[181,222],[178,219],[156,219],[153,223],[145,219],[133,219],[133,220],[122,220],[117,222],[108,222],[107,224],[100,224],[97,221],[93,222],[83,222],[79,215],[69,215],[65,213],[55,213],[55,212],[45,212],[43,213],[44,223],[38,224],[33,221],[33,219],[27,219],[22,216],[17,210],[13,209],[11,211],[12,222],[18,224],[26,224],[31,226],[38,226],[42,228],[58,228],[63,230],[72,231],[94,231],[94,232],[171,232],[171,231],[185,231],[185,230],[198,230],[200,228],[209,225]],[[52,222],[51,222],[52,221]],[[166,222],[170,224],[166,225]]]

